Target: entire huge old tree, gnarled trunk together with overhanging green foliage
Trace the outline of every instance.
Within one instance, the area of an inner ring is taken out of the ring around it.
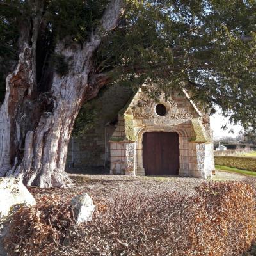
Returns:
[[[19,55],[0,110],[1,176],[21,173],[41,187],[71,182],[64,166],[74,120],[109,83],[146,83],[152,97],[184,88],[256,127],[255,1],[0,4],[1,35],[10,35],[1,47],[14,55],[8,68]]]

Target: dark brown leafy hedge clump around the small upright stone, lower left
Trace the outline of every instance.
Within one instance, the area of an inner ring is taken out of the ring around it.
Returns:
[[[42,196],[35,207],[20,207],[10,221],[4,239],[8,255],[51,255],[74,225],[72,208],[60,196]]]

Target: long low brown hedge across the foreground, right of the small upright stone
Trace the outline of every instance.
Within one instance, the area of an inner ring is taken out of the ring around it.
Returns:
[[[248,250],[256,238],[255,188],[211,182],[196,191],[195,196],[170,191],[115,195],[99,204],[91,222],[73,227],[68,246],[52,248],[49,237],[39,247],[52,255],[77,256],[237,256]],[[23,244],[28,239],[23,237]],[[39,255],[31,250],[28,255]]]

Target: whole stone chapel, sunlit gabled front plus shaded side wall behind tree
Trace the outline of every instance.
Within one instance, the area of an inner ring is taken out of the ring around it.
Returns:
[[[209,115],[185,91],[155,102],[143,90],[116,85],[86,103],[94,126],[72,138],[67,168],[81,173],[211,177],[214,170]],[[121,109],[121,110],[120,110]],[[101,171],[102,170],[102,171]],[[92,171],[92,172],[91,172]]]

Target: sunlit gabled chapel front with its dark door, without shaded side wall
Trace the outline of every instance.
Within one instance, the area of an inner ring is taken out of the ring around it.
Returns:
[[[188,93],[158,102],[141,89],[118,113],[110,143],[110,173],[211,177],[214,170],[209,116]]]

